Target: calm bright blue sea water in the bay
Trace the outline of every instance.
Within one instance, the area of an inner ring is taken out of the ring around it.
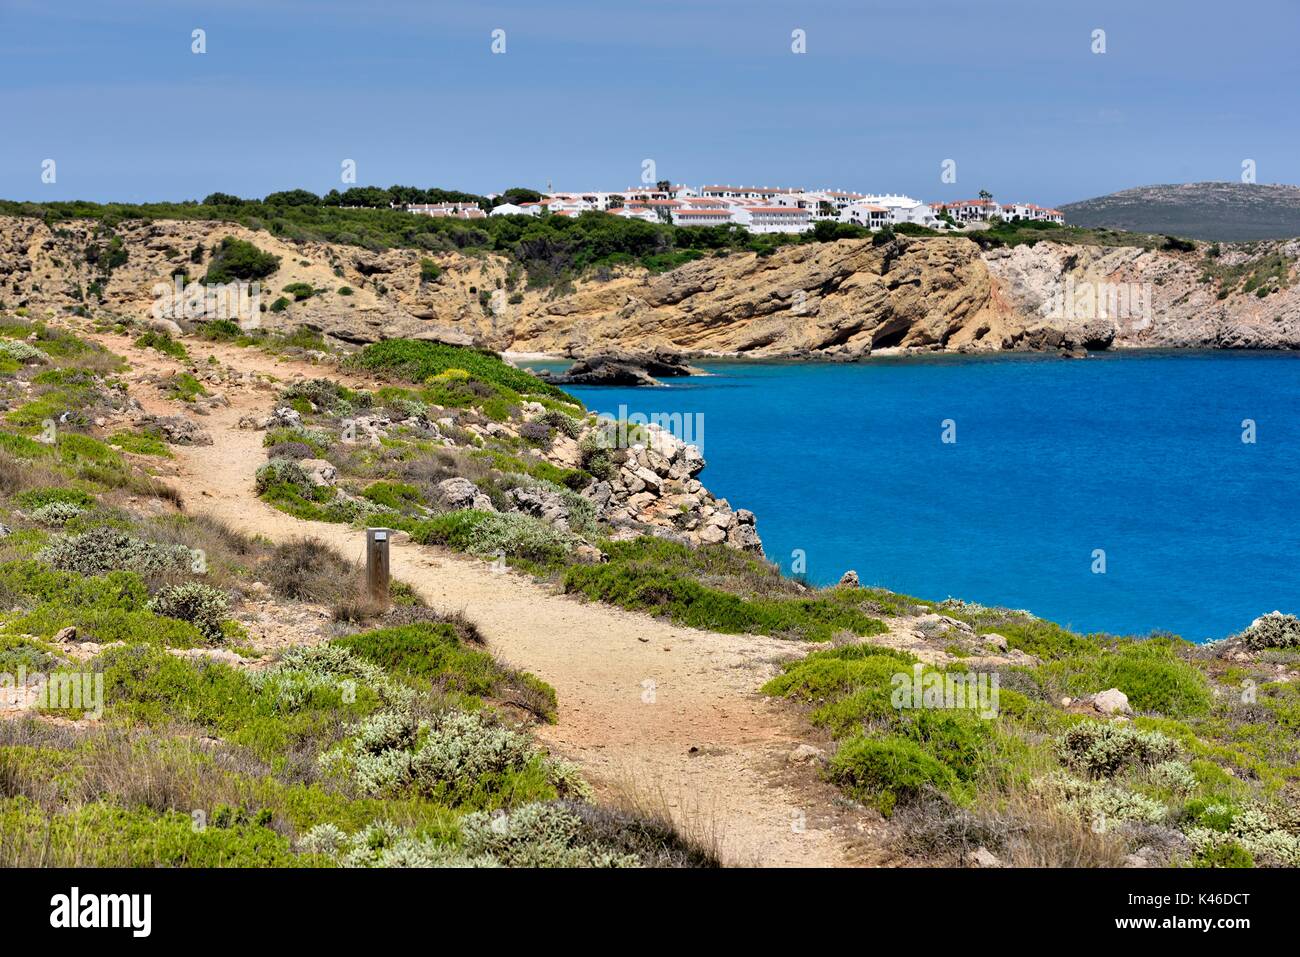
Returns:
[[[1192,640],[1300,612],[1300,356],[706,369],[663,389],[572,391],[599,412],[701,416],[701,478],[758,515],[786,572],[802,554],[819,584],[854,568],[931,599]]]

